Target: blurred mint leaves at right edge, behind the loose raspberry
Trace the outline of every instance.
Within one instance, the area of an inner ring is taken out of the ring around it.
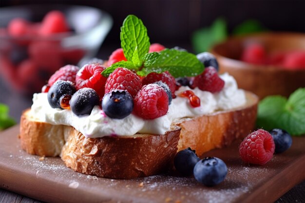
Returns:
[[[268,96],[258,106],[257,127],[285,129],[292,135],[305,134],[305,88],[293,92],[288,99]]]

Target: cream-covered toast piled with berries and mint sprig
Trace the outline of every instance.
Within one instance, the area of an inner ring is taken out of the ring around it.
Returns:
[[[61,156],[81,173],[130,179],[167,170],[177,151],[200,156],[254,128],[257,96],[219,75],[213,55],[150,44],[132,15],[121,46],[107,68],[66,65],[50,77],[21,116],[23,149]]]

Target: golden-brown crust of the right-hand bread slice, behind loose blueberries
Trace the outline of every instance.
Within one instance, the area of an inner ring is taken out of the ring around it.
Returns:
[[[213,148],[228,146],[254,128],[258,97],[246,92],[247,104],[231,111],[218,111],[191,119],[183,119],[178,150],[191,147],[198,156]]]

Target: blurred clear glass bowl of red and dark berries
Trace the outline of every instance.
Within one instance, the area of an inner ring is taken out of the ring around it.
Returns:
[[[112,27],[109,14],[87,6],[29,5],[0,9],[0,73],[30,94],[65,64],[92,58]]]

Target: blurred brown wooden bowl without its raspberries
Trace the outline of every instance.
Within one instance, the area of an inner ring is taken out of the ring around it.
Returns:
[[[238,87],[251,91],[263,99],[267,95],[288,97],[300,87],[305,87],[305,69],[287,69],[274,65],[255,65],[240,61],[248,43],[263,44],[267,53],[305,50],[305,35],[297,33],[261,33],[243,37],[230,37],[212,48],[217,57],[220,73],[228,72]]]

